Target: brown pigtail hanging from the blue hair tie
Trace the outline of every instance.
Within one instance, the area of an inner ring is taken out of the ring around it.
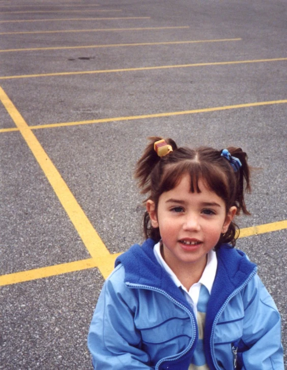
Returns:
[[[228,147],[227,150],[232,155],[232,157],[238,158],[241,162],[241,167],[237,172],[235,172],[235,175],[237,177],[237,189],[235,196],[237,214],[240,214],[240,211],[242,211],[244,214],[250,215],[246,208],[244,200],[244,193],[251,192],[250,167],[247,163],[247,154],[243,152],[241,148]]]

